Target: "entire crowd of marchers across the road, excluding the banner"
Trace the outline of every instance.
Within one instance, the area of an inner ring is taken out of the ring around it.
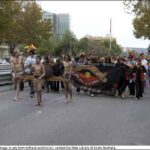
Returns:
[[[125,91],[128,87],[130,97],[141,99],[143,97],[144,88],[150,84],[150,62],[145,59],[143,53],[138,58],[129,57],[99,57],[92,54],[86,55],[81,53],[79,57],[71,58],[69,55],[63,55],[53,59],[51,56],[35,55],[33,51],[28,53],[24,58],[20,55],[19,50],[15,50],[10,58],[12,66],[12,76],[15,85],[16,95],[14,100],[20,98],[20,90],[23,90],[23,75],[32,75],[33,80],[28,80],[30,87],[30,97],[37,95],[37,105],[43,104],[42,91],[59,92],[63,90],[65,93],[65,102],[72,101],[72,82],[74,66],[94,65],[97,63],[118,64],[122,66],[121,76],[118,83],[118,95],[125,99]],[[62,76],[62,81],[49,81],[51,76]],[[79,94],[80,89],[76,92]],[[94,93],[91,93],[94,96]]]

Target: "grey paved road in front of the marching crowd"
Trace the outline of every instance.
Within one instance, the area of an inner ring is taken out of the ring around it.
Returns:
[[[0,145],[150,145],[150,92],[142,101],[61,92],[44,93],[35,106],[29,89],[14,102],[14,91],[0,94]]]

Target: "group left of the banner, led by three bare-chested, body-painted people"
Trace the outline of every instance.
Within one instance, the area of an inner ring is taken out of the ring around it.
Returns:
[[[20,99],[20,90],[23,90],[23,76],[32,75],[33,80],[28,80],[30,87],[30,97],[33,98],[35,93],[37,95],[37,106],[42,105],[42,91],[45,92],[59,92],[59,81],[48,81],[47,78],[51,76],[62,76],[61,88],[65,92],[65,102],[72,101],[72,84],[71,75],[73,70],[73,63],[69,55],[65,55],[54,62],[51,56],[34,55],[30,52],[24,60],[23,56],[19,54],[18,50],[14,51],[10,58],[12,66],[12,77],[14,87],[16,90],[15,101]]]

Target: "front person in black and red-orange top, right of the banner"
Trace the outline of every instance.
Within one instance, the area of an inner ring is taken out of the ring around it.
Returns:
[[[137,59],[137,66],[134,68],[134,80],[136,87],[136,99],[143,97],[143,81],[146,78],[146,68],[141,63],[141,59]]]

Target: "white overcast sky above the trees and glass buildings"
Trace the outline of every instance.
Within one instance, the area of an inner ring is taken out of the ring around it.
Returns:
[[[147,48],[149,40],[133,35],[133,15],[125,13],[123,1],[38,1],[43,10],[51,13],[69,13],[71,31],[76,37],[105,36],[110,31],[123,47]]]

